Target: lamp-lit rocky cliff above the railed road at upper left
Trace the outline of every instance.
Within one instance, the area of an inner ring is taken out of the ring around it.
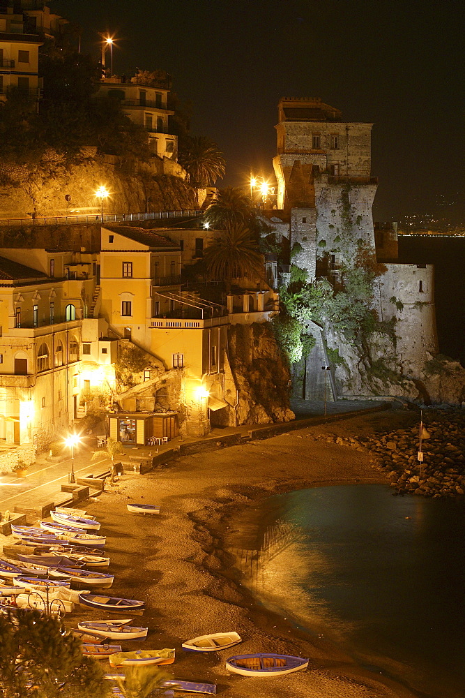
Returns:
[[[109,191],[105,214],[197,207],[195,189],[180,177],[158,174],[148,165],[128,172],[111,160],[84,153],[70,162],[49,153],[34,165],[0,163],[1,218],[99,214],[100,186]]]

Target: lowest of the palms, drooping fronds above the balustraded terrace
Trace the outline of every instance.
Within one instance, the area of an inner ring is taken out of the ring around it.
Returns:
[[[204,251],[208,273],[215,281],[232,281],[241,276],[264,276],[264,258],[244,223],[227,223],[224,232]]]

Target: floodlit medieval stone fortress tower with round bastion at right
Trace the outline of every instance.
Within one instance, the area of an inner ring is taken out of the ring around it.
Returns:
[[[319,99],[283,98],[278,110],[278,154],[273,165],[277,207],[290,221],[291,249],[299,245],[292,262],[307,269],[309,280],[327,276],[336,287],[341,266],[353,265],[360,248],[377,253],[372,124],[343,122],[339,110]],[[375,280],[373,307],[380,320],[395,318],[402,373],[417,378],[438,352],[434,267],[397,262],[397,238],[395,242],[389,248],[386,271]],[[384,262],[382,253],[377,261]],[[340,348],[341,355],[346,349]],[[307,399],[318,397],[308,392],[307,384]]]

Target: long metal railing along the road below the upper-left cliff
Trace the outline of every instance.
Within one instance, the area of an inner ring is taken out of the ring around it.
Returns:
[[[165,218],[195,218],[201,216],[199,209],[182,211],[148,211],[137,214],[77,214],[75,216],[36,216],[35,218],[0,218],[0,226],[22,225],[75,225],[76,223],[130,223],[131,221],[162,221]]]

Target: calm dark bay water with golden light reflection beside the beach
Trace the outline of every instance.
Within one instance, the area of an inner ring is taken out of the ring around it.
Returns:
[[[465,696],[463,501],[358,484],[275,496],[252,518],[270,541],[249,580],[261,602],[418,695]]]

